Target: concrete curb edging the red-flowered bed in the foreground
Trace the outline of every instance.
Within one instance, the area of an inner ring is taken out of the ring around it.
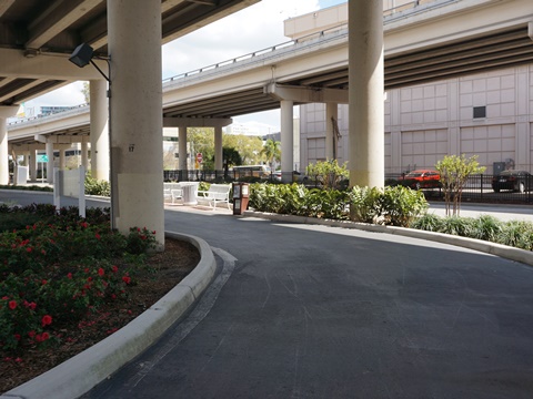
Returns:
[[[200,263],[180,284],[113,335],[0,399],[78,398],[155,342],[203,293],[217,268],[214,255],[203,239],[169,232],[165,236],[191,243],[200,252]]]

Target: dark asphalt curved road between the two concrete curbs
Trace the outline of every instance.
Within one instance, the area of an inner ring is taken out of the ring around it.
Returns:
[[[531,267],[222,213],[168,211],[165,221],[205,239],[225,278],[205,293],[209,305],[87,398],[533,395]]]

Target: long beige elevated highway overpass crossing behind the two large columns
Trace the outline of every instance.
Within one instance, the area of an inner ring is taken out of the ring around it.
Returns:
[[[410,7],[408,7],[410,6]],[[384,86],[419,84],[533,62],[530,0],[438,0],[385,10]],[[163,125],[210,121],[308,102],[348,103],[348,28],[339,25],[163,81]],[[89,108],[8,126],[13,149],[57,136],[83,141]],[[213,124],[214,126],[214,124]],[[41,140],[36,140],[41,137]]]

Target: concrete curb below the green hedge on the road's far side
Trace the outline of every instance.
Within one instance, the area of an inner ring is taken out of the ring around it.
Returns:
[[[244,216],[268,218],[276,222],[314,224],[332,227],[356,228],[365,232],[396,234],[405,237],[421,238],[426,241],[439,242],[461,246],[463,248],[480,250],[483,253],[496,255],[506,259],[520,262],[529,266],[533,266],[533,253],[525,249],[513,248],[506,245],[495,244],[482,239],[466,238],[443,233],[424,232],[414,228],[379,226],[365,223],[356,223],[350,221],[320,219],[316,217],[278,215],[270,213],[261,213],[254,211],[245,211]]]

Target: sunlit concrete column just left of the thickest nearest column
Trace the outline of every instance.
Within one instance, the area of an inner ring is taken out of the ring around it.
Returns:
[[[104,80],[90,81],[89,90],[91,102],[91,175],[99,181],[109,181],[108,83]],[[87,165],[84,166],[87,167]]]

